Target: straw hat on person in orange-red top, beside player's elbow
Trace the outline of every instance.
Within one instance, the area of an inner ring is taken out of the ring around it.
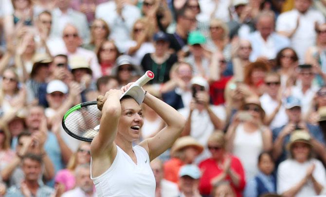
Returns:
[[[176,152],[178,152],[181,149],[188,147],[188,146],[192,146],[192,147],[196,148],[198,150],[199,154],[204,150],[204,147],[199,142],[197,142],[197,140],[195,140],[195,138],[193,138],[191,136],[184,136],[184,137],[179,138],[172,145],[171,156],[173,157],[176,154]]]

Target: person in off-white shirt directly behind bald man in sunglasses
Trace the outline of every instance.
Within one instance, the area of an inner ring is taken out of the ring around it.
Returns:
[[[81,43],[88,43],[90,30],[87,18],[83,13],[72,10],[70,2],[71,0],[56,1],[57,7],[52,11],[52,35],[54,37],[62,37],[65,34],[64,29],[66,26],[72,24],[76,32],[80,33]]]

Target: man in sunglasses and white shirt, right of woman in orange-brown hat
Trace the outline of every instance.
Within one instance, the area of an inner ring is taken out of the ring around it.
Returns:
[[[274,129],[288,122],[288,116],[282,105],[281,77],[277,72],[269,72],[264,81],[266,89],[259,100],[266,113],[265,125]]]

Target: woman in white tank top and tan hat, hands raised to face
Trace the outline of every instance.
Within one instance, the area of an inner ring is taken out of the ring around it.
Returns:
[[[263,125],[265,112],[257,97],[246,98],[240,109],[227,130],[226,150],[240,159],[250,180],[258,172],[259,153],[272,149],[272,132]]]

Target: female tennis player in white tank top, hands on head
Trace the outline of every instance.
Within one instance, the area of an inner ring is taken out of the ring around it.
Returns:
[[[109,90],[103,98],[100,130],[91,142],[91,179],[99,197],[154,197],[155,178],[149,163],[171,147],[185,124],[178,111],[145,93],[144,103],[166,127],[133,147],[144,122],[142,109],[132,97],[120,99],[131,85]]]

